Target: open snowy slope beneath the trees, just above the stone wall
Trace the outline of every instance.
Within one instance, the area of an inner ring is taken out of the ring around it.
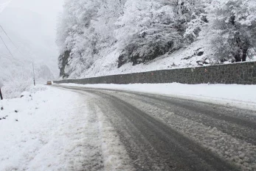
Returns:
[[[106,51],[105,57],[100,57],[88,70],[83,70],[81,76],[75,78],[89,78],[94,76],[107,76],[122,73],[139,73],[150,70],[168,70],[176,68],[194,68],[201,65],[209,66],[215,65],[216,59],[214,57],[214,49],[212,48],[212,38],[215,34],[211,33],[207,26],[204,31],[201,32],[198,39],[190,46],[179,49],[172,54],[165,54],[162,57],[153,59],[151,62],[145,64],[132,65],[131,63],[122,65],[121,68],[117,68],[117,59],[119,53],[117,51]],[[204,52],[203,55],[198,56],[198,52]],[[203,64],[204,60],[208,59],[210,64]],[[200,65],[198,65],[200,61]],[[248,61],[256,61],[256,57],[249,59]],[[225,62],[228,64],[231,62]]]

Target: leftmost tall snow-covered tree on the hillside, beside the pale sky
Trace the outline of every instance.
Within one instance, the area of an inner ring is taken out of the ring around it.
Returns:
[[[98,2],[92,0],[67,0],[64,4],[57,34],[62,76],[69,76],[73,70],[82,72],[93,62],[97,38],[91,21],[97,10]]]

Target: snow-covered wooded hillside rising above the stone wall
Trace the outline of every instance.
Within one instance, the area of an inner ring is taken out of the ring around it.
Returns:
[[[154,70],[158,59],[173,68],[255,57],[256,0],[66,0],[63,7],[56,40],[63,78]]]

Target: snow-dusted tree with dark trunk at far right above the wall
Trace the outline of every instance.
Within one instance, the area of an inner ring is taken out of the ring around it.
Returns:
[[[215,0],[214,41],[216,56],[221,60],[233,58],[236,62],[246,61],[249,48],[256,43],[255,0]]]

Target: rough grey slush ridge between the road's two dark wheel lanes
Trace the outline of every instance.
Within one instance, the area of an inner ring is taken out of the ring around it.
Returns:
[[[172,128],[184,134],[184,136],[190,137],[190,139],[200,143],[204,148],[237,165],[241,170],[256,170],[255,145],[243,139],[234,138],[232,135],[219,131],[218,128],[204,125],[200,121],[195,122],[175,112],[170,112],[171,108],[159,108],[156,105],[156,101],[154,103],[148,103],[148,99],[145,100],[144,98],[145,101],[142,103],[143,96],[136,96],[134,98],[132,97],[133,95],[124,95],[123,93],[120,93],[120,95],[117,93],[111,94],[123,101],[128,101],[131,105],[136,105],[136,107],[147,112],[147,114],[169,124]],[[182,112],[183,109],[180,108],[179,110],[176,112]]]

